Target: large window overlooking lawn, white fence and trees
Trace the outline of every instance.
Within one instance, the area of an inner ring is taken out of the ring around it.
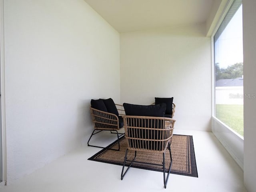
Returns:
[[[234,0],[214,35],[214,116],[244,136],[242,0]]]

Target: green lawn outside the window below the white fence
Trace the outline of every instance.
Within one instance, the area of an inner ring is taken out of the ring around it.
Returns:
[[[244,106],[216,104],[216,117],[244,136]]]

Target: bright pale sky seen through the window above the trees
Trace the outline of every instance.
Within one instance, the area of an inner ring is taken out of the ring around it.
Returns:
[[[220,68],[243,62],[242,5],[215,43],[215,63]]]

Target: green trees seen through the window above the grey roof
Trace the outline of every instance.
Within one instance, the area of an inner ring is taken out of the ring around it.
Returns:
[[[220,68],[219,64],[215,64],[215,78],[219,79],[235,79],[242,77],[243,75],[243,63],[236,63],[227,68]]]

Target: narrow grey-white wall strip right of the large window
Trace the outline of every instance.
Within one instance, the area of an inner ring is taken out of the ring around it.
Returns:
[[[256,1],[243,1],[244,94],[256,94]],[[256,189],[256,98],[244,98],[244,184]]]

